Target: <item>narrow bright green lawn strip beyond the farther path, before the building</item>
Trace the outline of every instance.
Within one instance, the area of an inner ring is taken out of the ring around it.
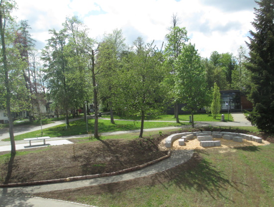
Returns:
[[[205,113],[197,113],[194,114],[194,121],[210,121],[210,122],[218,122],[221,121],[222,114],[225,115],[225,121],[233,121],[231,114],[229,114],[229,120],[227,113],[220,113],[218,114],[216,119],[213,119],[212,115],[205,114]],[[190,114],[179,114],[180,121],[189,121]],[[110,118],[109,114],[102,115],[103,118]],[[124,115],[114,115],[115,119],[131,119],[131,120],[140,120],[139,116],[124,116]],[[154,116],[147,116],[145,120],[154,120],[154,121],[176,121],[174,115],[171,114],[158,114]]]

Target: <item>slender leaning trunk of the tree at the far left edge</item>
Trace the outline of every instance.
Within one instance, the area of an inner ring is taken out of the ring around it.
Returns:
[[[14,141],[14,135],[13,135],[13,120],[11,116],[11,110],[10,110],[10,100],[11,100],[11,92],[9,88],[9,80],[8,80],[8,66],[7,66],[7,60],[6,60],[6,50],[5,50],[5,35],[4,35],[4,27],[2,25],[2,14],[0,13],[0,36],[1,36],[1,44],[2,44],[2,63],[4,68],[4,83],[5,83],[5,89],[6,89],[6,112],[8,117],[8,123],[9,123],[9,138],[10,138],[10,145],[11,145],[11,155],[16,154],[15,149],[15,141]]]

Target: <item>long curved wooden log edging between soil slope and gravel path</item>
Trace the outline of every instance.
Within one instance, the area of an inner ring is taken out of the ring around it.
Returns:
[[[148,163],[138,165],[132,168],[112,172],[112,173],[102,173],[102,174],[95,174],[95,175],[87,175],[87,176],[76,176],[76,177],[69,177],[69,178],[62,178],[62,179],[54,179],[54,180],[46,180],[46,181],[31,181],[25,183],[10,183],[10,184],[0,184],[0,188],[7,188],[7,187],[19,187],[19,186],[34,186],[34,185],[43,185],[43,184],[53,184],[53,183],[63,183],[69,181],[79,181],[79,180],[86,180],[86,179],[94,179],[94,178],[102,178],[102,177],[109,177],[109,176],[116,176],[124,173],[130,173],[133,171],[140,170],[145,168],[149,165],[153,165],[157,162],[160,162],[166,158],[169,158],[171,155],[171,150],[168,150],[167,155],[160,157],[156,160],[152,160]]]

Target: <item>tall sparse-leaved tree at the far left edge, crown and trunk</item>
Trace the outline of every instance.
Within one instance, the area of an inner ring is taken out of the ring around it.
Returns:
[[[1,74],[0,83],[4,83],[2,93],[4,95],[4,108],[6,109],[8,121],[9,121],[9,138],[11,144],[11,154],[15,155],[15,141],[13,135],[13,119],[11,110],[14,110],[14,96],[17,96],[17,103],[21,99],[18,89],[20,88],[20,73],[18,69],[21,69],[21,61],[16,58],[18,51],[13,47],[14,41],[13,30],[9,27],[14,24],[14,19],[10,15],[16,4],[13,0],[0,0],[0,37],[1,37]],[[14,25],[13,25],[14,26]],[[23,95],[22,95],[23,96]],[[13,108],[13,109],[12,109]]]

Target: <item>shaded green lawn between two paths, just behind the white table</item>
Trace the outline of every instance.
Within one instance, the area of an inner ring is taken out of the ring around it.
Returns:
[[[139,121],[116,121],[116,124],[111,124],[109,120],[99,119],[99,132],[116,132],[116,131],[127,131],[127,130],[137,130],[140,129]],[[171,122],[145,122],[144,129],[149,128],[159,128],[159,127],[169,127],[169,126],[182,126],[189,125],[190,123],[171,123]],[[88,129],[92,132],[94,128],[94,119],[88,120]],[[70,136],[70,135],[81,135],[87,134],[86,122],[82,120],[77,120],[70,122],[70,127],[66,129],[65,124],[61,124],[55,127],[50,127],[43,129],[43,134],[41,135],[41,131],[37,130],[34,132],[29,132],[21,135],[17,135],[14,137],[15,141],[23,140],[25,138],[32,137],[41,137],[41,136],[49,136],[49,137],[60,137],[60,136]],[[9,141],[9,139],[3,139],[2,141]]]

